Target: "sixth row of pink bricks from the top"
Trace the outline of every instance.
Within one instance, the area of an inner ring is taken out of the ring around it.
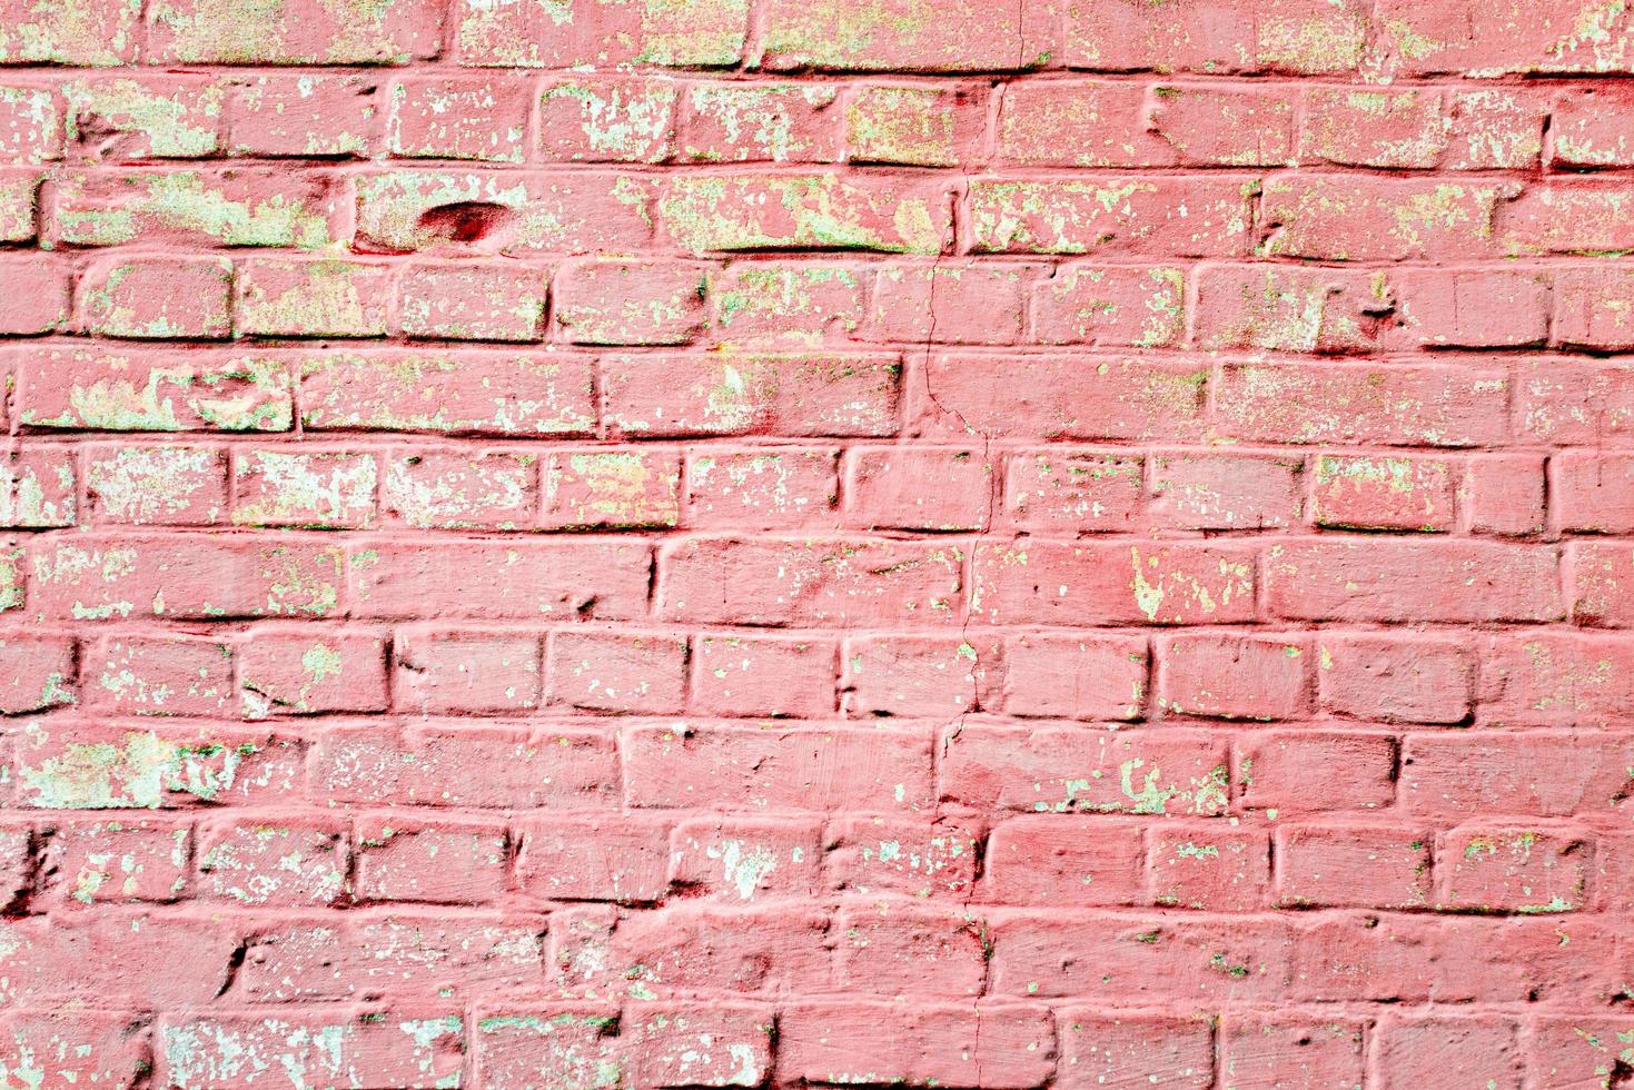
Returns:
[[[80,489],[83,482],[83,490]],[[0,526],[1634,533],[1634,456],[29,443]]]

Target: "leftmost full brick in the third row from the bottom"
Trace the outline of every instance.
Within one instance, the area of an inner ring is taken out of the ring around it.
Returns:
[[[173,902],[191,884],[193,830],[165,819],[64,822],[47,829],[42,863],[56,904]]]

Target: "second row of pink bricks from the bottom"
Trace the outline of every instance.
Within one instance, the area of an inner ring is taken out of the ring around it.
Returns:
[[[5,997],[25,1008],[90,998],[165,1010],[225,994],[227,1002],[278,1003],[263,1007],[276,1015],[297,1002],[384,994],[407,1005],[433,995],[539,995],[547,987],[559,997],[825,995],[842,979],[835,948],[846,935],[837,923],[864,914],[873,914],[876,941],[848,951],[848,987],[913,1000],[962,995],[967,1010],[979,995],[1109,1005],[1185,995],[1183,1010],[1479,1000],[1542,1003],[1567,1015],[1614,1007],[1634,954],[1624,920],[1587,914],[993,907],[967,917],[884,902],[838,917],[794,904],[694,902],[623,912],[582,905],[549,917],[392,907],[281,910],[268,918],[219,909],[206,915],[193,905],[106,905],[0,923],[0,964],[8,972]],[[98,956],[75,956],[88,943]],[[175,972],[178,959],[193,971]]]

